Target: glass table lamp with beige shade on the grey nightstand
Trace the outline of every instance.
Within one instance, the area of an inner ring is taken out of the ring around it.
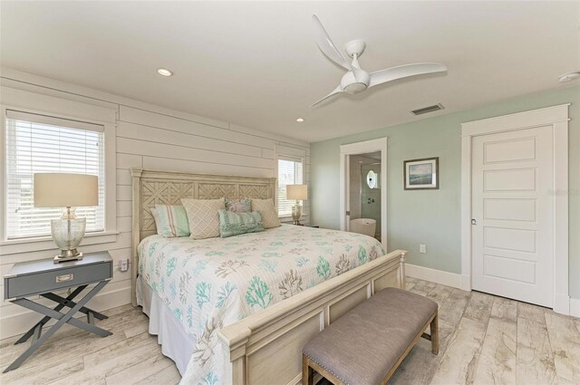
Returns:
[[[74,215],[75,207],[99,205],[98,178],[84,174],[34,174],[34,207],[64,207],[63,216],[51,219],[51,234],[61,254],[54,263],[82,259],[81,243],[86,218]]]

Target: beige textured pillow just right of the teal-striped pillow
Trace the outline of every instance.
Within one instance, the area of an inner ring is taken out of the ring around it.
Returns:
[[[221,199],[181,199],[181,204],[188,213],[191,239],[215,238],[219,236],[218,210],[226,209],[224,198]]]

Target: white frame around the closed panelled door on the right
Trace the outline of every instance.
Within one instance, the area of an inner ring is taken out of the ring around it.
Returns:
[[[554,153],[554,311],[570,314],[568,294],[568,106],[461,123],[461,285],[471,289],[471,148],[473,137],[552,126]]]

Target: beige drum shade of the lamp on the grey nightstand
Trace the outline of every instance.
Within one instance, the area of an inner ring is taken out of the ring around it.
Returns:
[[[96,175],[34,174],[34,207],[99,205]]]

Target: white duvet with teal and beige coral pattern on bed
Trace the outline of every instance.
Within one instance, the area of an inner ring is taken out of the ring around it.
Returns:
[[[370,236],[283,225],[262,233],[191,240],[148,236],[139,273],[195,341],[182,383],[223,382],[217,331],[383,255]]]

